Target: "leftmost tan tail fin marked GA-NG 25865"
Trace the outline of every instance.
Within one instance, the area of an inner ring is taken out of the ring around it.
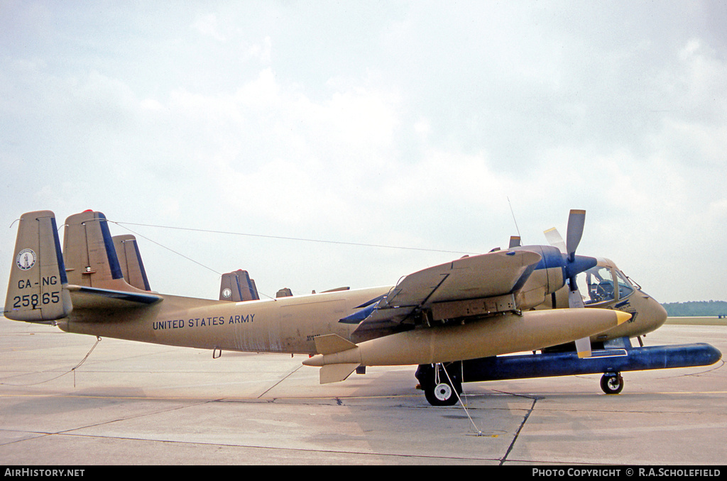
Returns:
[[[20,217],[4,315],[44,323],[63,319],[73,309],[68,278],[52,211]]]

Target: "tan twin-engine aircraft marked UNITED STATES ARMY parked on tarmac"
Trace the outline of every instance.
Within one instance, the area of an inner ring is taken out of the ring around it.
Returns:
[[[268,300],[260,300],[254,281],[238,270],[223,276],[220,300],[208,300],[150,291],[135,239],[112,238],[100,212],[66,219],[63,253],[55,214],[29,212],[20,218],[4,315],[72,333],[211,349],[213,355],[305,354],[303,364],[321,368],[321,383],[343,381],[366,366],[419,365],[427,400],[449,405],[457,402],[463,379],[508,379],[493,376],[489,366],[518,356],[500,355],[540,349],[545,355],[575,341],[578,362],[587,363],[598,357],[590,342],[611,339],[611,332],[628,339],[664,322],[665,315],[651,312],[654,306],[663,312],[661,306],[640,291],[642,301],[624,303],[616,294],[620,304],[603,304],[608,309],[584,307],[576,278],[603,264],[575,255],[584,215],[571,211],[563,252],[513,245],[414,272],[393,287],[302,296],[284,289]],[[569,308],[556,309],[563,289],[571,293]],[[545,365],[553,368],[553,361]],[[561,375],[542,368],[541,376]],[[503,372],[523,377],[517,373],[522,368],[509,369]]]

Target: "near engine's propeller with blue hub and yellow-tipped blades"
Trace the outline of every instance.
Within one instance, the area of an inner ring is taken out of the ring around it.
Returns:
[[[576,276],[579,272],[593,267],[593,260],[591,258],[576,256],[576,249],[583,235],[585,219],[586,211],[571,209],[568,216],[568,232],[566,233],[565,242],[563,242],[561,234],[555,228],[545,231],[545,238],[550,245],[559,248],[563,254],[566,254],[565,277],[568,279],[568,307],[571,309],[585,307],[581,293],[576,285]],[[578,357],[590,357],[590,338],[576,339],[576,351],[578,352]]]

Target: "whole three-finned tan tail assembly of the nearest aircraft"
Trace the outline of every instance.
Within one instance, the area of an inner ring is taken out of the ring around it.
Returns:
[[[133,236],[111,238],[100,212],[84,211],[65,219],[63,245],[61,252],[52,211],[20,217],[6,318],[49,323],[68,317],[73,307],[79,311],[138,307],[163,299],[149,292]]]

